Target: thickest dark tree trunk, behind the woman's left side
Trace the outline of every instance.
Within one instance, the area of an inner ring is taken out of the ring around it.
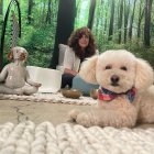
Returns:
[[[74,30],[75,15],[76,15],[76,0],[59,0],[55,45],[53,57],[50,65],[50,67],[52,68],[56,68],[58,64],[58,55],[59,55],[58,44],[59,43],[67,44],[67,40]]]

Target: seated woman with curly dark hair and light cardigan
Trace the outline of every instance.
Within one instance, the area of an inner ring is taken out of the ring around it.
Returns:
[[[94,56],[96,53],[95,38],[88,28],[80,28],[72,33],[64,56],[62,88],[68,86],[82,90],[86,95],[91,88],[98,88],[98,86],[88,84],[77,76],[85,58]]]

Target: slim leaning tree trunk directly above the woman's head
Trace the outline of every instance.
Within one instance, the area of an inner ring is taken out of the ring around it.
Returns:
[[[89,18],[88,18],[88,28],[90,30],[92,29],[94,25],[95,9],[96,9],[96,0],[91,0],[90,9],[89,9]]]

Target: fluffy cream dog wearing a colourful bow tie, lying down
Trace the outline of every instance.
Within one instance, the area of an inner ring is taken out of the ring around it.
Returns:
[[[70,120],[85,127],[116,128],[154,122],[154,73],[147,62],[125,50],[107,51],[86,61],[79,75],[100,85],[98,106],[72,110]]]

